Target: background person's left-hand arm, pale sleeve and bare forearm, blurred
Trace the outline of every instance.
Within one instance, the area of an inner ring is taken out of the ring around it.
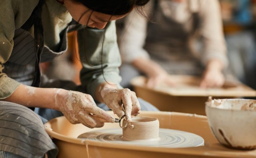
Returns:
[[[153,4],[146,5],[145,13],[151,13]],[[120,53],[122,61],[132,64],[148,76],[148,86],[154,87],[166,77],[167,72],[150,59],[148,52],[143,48],[147,36],[148,20],[133,11],[127,16],[123,33],[120,36]]]

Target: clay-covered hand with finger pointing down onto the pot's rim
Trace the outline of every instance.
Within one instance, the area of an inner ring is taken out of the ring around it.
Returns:
[[[103,88],[101,97],[108,108],[112,109],[118,117],[127,115],[128,121],[131,121],[131,115],[140,114],[140,104],[135,92],[128,88]]]

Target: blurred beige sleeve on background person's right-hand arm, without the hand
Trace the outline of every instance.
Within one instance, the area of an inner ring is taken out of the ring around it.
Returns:
[[[202,36],[204,37],[204,54],[202,62],[206,64],[211,59],[222,61],[228,65],[226,42],[222,29],[220,4],[217,0],[201,0],[199,14],[202,19]]]

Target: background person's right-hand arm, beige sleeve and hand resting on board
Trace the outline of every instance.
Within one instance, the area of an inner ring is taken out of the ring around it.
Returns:
[[[226,43],[222,29],[222,18],[218,0],[201,0],[199,14],[202,19],[201,32],[204,52],[202,63],[205,71],[200,86],[221,87],[225,78],[222,73],[228,65]]]

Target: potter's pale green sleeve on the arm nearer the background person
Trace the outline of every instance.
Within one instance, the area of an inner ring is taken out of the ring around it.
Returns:
[[[117,45],[115,21],[109,22],[105,27],[105,40],[102,54],[102,67],[106,81],[117,84],[121,81],[118,67],[121,65],[121,57]],[[79,54],[83,68],[80,72],[82,87],[93,98],[99,84],[105,82],[101,71],[101,48],[104,29],[85,28],[78,30],[77,39]],[[87,58],[87,60],[86,60]],[[88,61],[88,62],[87,62]]]

